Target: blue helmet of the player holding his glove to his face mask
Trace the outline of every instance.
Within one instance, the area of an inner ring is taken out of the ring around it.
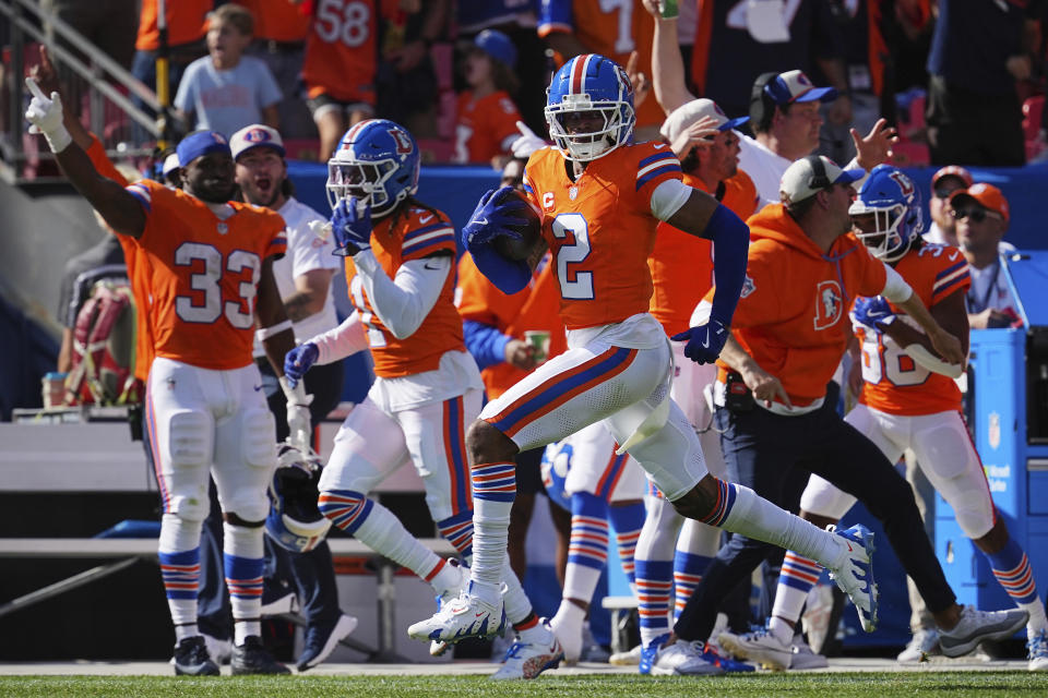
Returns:
[[[372,216],[393,210],[418,191],[418,145],[407,129],[388,119],[352,127],[327,160],[327,203],[332,210],[353,196],[371,205]]]

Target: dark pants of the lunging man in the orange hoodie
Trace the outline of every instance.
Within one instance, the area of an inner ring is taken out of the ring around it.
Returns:
[[[909,485],[873,442],[841,419],[833,401],[796,417],[782,417],[761,407],[743,412],[717,408],[714,419],[723,432],[720,447],[729,478],[784,509],[797,512],[809,473],[822,476],[855,495],[881,521],[932,613],[956,601],[928,537],[922,534],[924,524]],[[784,551],[770,543],[733,535],[688,600],[674,628],[677,635],[705,640],[720,599],[761,562],[781,565],[783,555]]]

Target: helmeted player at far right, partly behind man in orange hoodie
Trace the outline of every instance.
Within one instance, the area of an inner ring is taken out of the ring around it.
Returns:
[[[914,182],[881,165],[862,184],[850,214],[859,240],[910,284],[939,324],[962,338],[966,350],[967,264],[956,248],[922,243],[920,197]],[[963,362],[949,363],[936,356],[916,323],[883,297],[857,298],[851,324],[862,345],[861,360],[853,364],[856,372],[861,370],[861,377],[855,376],[861,394],[860,404],[845,421],[877,444],[890,462],[897,462],[906,448],[914,449],[925,476],[953,507],[962,530],[986,554],[1015,604],[1029,614],[1029,670],[1048,671],[1048,618],[1029,561],[997,514],[962,418],[961,390],[953,380],[964,372]],[[855,501],[813,474],[800,507],[805,516],[824,526],[839,520]],[[818,571],[799,556],[787,555],[773,614],[796,624]],[[952,638],[939,640],[943,649],[953,651]],[[776,652],[789,651],[788,642],[777,642],[773,634],[742,636],[737,643],[755,660],[774,662]]]

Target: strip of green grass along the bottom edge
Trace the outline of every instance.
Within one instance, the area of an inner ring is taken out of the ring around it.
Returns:
[[[1048,696],[1048,674],[1026,672],[912,672],[854,674],[750,674],[715,678],[543,676],[531,682],[493,683],[484,676],[283,676],[176,678],[163,676],[4,676],[0,696],[19,698],[103,697],[165,698],[311,698],[349,696],[428,698],[448,696],[629,696],[710,698],[786,696],[851,698],[896,696],[1040,697]]]

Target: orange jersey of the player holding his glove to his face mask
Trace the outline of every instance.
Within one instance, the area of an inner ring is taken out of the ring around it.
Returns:
[[[395,219],[395,220],[394,220]],[[405,262],[421,260],[434,252],[455,254],[455,229],[441,212],[409,208],[406,215],[386,216],[371,231],[371,252],[392,279]],[[352,257],[346,257],[349,300],[360,313],[368,330],[374,374],[383,378],[414,375],[440,368],[440,358],[448,351],[465,351],[462,318],[455,310],[455,275],[448,274],[432,310],[409,337],[393,336],[371,308],[357,277]]]

